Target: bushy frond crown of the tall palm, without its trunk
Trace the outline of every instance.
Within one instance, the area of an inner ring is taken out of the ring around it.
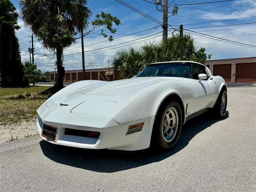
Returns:
[[[21,18],[45,48],[54,49],[59,44],[54,43],[56,34],[68,31],[72,37],[87,27],[92,12],[86,4],[86,0],[20,0]],[[70,39],[62,46],[73,44],[75,40]]]

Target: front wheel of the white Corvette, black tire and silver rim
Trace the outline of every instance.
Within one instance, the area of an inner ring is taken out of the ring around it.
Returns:
[[[180,136],[182,114],[178,102],[170,102],[159,109],[152,131],[153,146],[162,149],[172,148]]]

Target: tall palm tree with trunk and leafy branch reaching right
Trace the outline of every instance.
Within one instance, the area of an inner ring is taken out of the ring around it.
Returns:
[[[120,20],[110,14],[102,12],[96,15],[96,19],[91,22],[92,28],[88,28],[88,19],[91,11],[86,7],[87,0],[22,0],[20,1],[22,19],[27,27],[42,40],[42,44],[49,50],[56,50],[57,57],[57,87],[63,87],[62,56],[63,48],[75,43],[75,36],[84,29],[92,32],[98,26],[106,27],[111,33],[115,33],[112,23],[120,24]],[[86,33],[88,34],[88,33]],[[85,34],[85,35],[86,35]],[[101,35],[110,41],[112,36],[108,36],[104,30]]]

